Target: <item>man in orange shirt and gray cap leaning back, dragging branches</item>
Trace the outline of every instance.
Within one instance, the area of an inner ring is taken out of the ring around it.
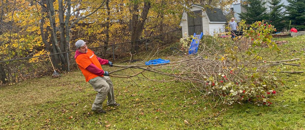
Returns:
[[[102,109],[102,104],[106,99],[106,96],[108,97],[107,105],[120,105],[114,100],[113,84],[109,78],[109,73],[104,71],[101,66],[112,66],[112,62],[97,57],[93,51],[87,48],[86,43],[87,42],[84,42],[83,40],[78,40],[75,43],[77,50],[74,58],[85,76],[86,82],[89,82],[94,90],[98,92],[91,108],[92,111],[106,113],[106,111]]]

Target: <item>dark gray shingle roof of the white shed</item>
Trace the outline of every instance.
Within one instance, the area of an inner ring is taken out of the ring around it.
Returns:
[[[197,4],[194,4],[197,5]],[[203,7],[203,5],[198,5]],[[205,8],[206,15],[208,15],[210,22],[227,22],[224,13],[220,8]]]

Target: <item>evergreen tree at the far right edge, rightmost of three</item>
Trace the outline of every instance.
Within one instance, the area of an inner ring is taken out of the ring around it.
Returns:
[[[285,6],[288,16],[287,22],[291,20],[292,27],[305,30],[305,0],[287,0],[289,5]]]

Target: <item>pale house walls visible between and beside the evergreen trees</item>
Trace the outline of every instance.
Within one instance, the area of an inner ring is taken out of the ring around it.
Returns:
[[[241,12],[246,12],[246,9],[244,7],[242,7],[242,4],[241,2],[245,2],[246,0],[237,0],[235,2],[232,3],[231,5],[231,11],[234,11],[234,18],[236,18],[235,20],[236,21],[240,21],[241,19],[239,18],[239,15],[238,13],[241,13]],[[270,0],[262,0],[262,3],[264,2],[267,2],[266,4],[263,5],[263,7],[266,7],[267,8],[267,12],[269,12],[271,9],[269,8],[269,3],[268,1]],[[281,3],[283,5],[288,5],[288,2],[286,0],[281,0]],[[285,8],[283,8],[282,12],[285,12]]]

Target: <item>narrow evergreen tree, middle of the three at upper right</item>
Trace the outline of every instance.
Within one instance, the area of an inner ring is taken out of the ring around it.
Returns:
[[[282,30],[285,26],[283,20],[284,13],[282,12],[284,5],[281,3],[281,0],[271,0],[268,3],[270,8],[268,19],[272,21],[271,24],[273,24],[278,31]]]

